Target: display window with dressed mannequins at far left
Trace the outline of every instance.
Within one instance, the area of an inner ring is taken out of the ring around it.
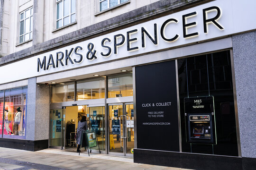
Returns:
[[[3,92],[0,92],[0,134],[7,138],[24,138],[27,87],[5,90],[5,96],[3,94]]]

